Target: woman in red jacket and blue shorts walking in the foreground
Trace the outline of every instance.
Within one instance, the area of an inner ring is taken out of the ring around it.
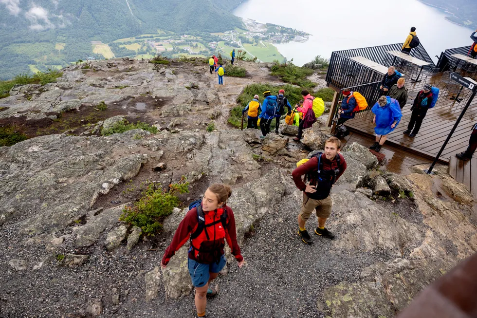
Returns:
[[[205,316],[206,296],[214,297],[218,293],[218,289],[209,284],[225,266],[225,240],[238,261],[238,267],[242,267],[244,263],[237,244],[234,212],[226,206],[231,194],[229,186],[218,183],[210,186],[205,191],[202,204],[187,212],[179,224],[161,262],[161,266],[165,268],[170,258],[190,238],[187,265],[195,287],[198,317]]]

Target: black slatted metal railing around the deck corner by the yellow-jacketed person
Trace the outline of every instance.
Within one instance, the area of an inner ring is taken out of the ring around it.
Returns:
[[[330,66],[328,67],[326,81],[338,89],[378,81],[382,79],[384,76],[383,74],[357,63],[350,58],[363,56],[375,63],[384,66],[392,66],[395,64],[397,57],[387,52],[400,52],[402,47],[403,43],[396,43],[333,52],[331,53]],[[436,68],[434,61],[427,54],[421,44],[417,48],[412,49],[410,55],[428,62],[430,65],[423,67],[426,71],[432,71]]]

